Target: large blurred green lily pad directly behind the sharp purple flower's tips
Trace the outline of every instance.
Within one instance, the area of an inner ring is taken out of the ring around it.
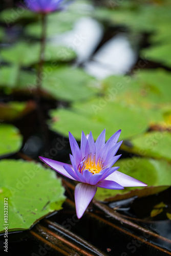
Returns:
[[[130,138],[146,131],[148,122],[139,109],[127,108],[120,103],[94,99],[89,102],[75,103],[72,109],[59,109],[50,112],[53,131],[68,136],[70,131],[80,140],[81,131],[89,134],[92,131],[97,139],[106,129],[106,139],[116,131],[122,130],[120,139]]]

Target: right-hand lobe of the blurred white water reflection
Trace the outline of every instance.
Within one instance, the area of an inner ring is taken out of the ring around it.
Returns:
[[[106,42],[93,59],[85,64],[86,71],[96,78],[122,75],[136,62],[136,53],[125,34],[118,34]]]

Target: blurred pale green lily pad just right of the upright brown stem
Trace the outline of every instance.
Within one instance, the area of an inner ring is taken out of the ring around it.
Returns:
[[[42,89],[52,94],[56,99],[80,100],[91,97],[95,79],[79,68],[58,67],[43,80]]]

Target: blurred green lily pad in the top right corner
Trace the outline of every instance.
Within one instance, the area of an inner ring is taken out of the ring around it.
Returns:
[[[163,2],[160,6],[145,1],[125,1],[121,5],[115,2],[114,8],[96,8],[94,15],[98,19],[108,19],[115,26],[122,25],[138,32],[154,32],[158,27],[169,24],[171,19],[168,2]]]

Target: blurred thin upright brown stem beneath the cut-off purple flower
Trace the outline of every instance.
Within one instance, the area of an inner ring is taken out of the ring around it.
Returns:
[[[44,55],[45,55],[45,44],[46,44],[46,30],[47,30],[47,15],[41,14],[41,39],[40,39],[40,55],[37,70],[37,91],[40,93],[42,86],[42,69],[44,67]]]

